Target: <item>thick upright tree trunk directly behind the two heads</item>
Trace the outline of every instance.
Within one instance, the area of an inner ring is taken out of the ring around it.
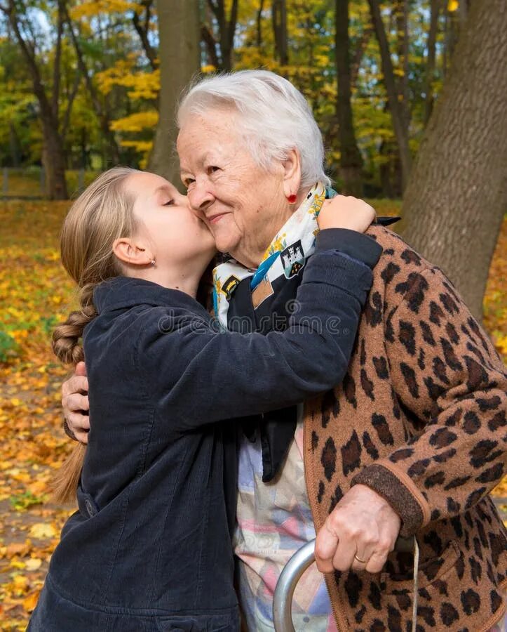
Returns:
[[[182,90],[200,68],[199,2],[159,0],[160,117],[148,168],[180,186],[175,143],[176,108]]]

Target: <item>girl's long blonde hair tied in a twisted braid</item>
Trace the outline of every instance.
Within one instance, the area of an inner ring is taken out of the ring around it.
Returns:
[[[60,237],[62,263],[79,287],[80,310],[71,312],[53,331],[53,351],[64,364],[84,360],[81,338],[86,325],[97,316],[93,289],[97,284],[123,273],[112,245],[119,237],[135,232],[134,197],[126,190],[126,179],[140,173],[114,167],[102,173],[72,204]],[[86,445],[78,443],[52,481],[58,502],[72,501],[81,477]]]

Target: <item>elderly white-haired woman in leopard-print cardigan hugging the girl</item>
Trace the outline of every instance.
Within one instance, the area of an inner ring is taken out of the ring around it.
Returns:
[[[316,224],[295,211],[333,195],[316,121],[266,71],[204,79],[178,121],[189,203],[226,254],[215,314],[229,329],[277,329],[313,252]],[[273,629],[278,575],[318,534],[296,625],[408,631],[415,614],[418,631],[487,631],[506,605],[506,531],[488,496],[506,462],[506,371],[438,268],[384,226],[368,234],[384,253],[344,382],[243,423],[234,547],[245,621]],[[82,376],[63,388],[81,438],[86,388]],[[416,586],[414,555],[393,551],[398,534],[419,545]]]

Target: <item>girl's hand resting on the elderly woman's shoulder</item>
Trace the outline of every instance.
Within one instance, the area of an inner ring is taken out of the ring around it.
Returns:
[[[364,200],[351,195],[326,199],[317,218],[318,228],[348,228],[365,232],[375,219],[375,211]]]

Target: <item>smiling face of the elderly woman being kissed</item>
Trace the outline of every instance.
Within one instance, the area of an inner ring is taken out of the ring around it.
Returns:
[[[229,110],[189,116],[177,150],[190,206],[208,225],[217,249],[255,268],[290,217],[285,189],[291,185],[282,162],[270,171],[254,162],[235,119]]]

